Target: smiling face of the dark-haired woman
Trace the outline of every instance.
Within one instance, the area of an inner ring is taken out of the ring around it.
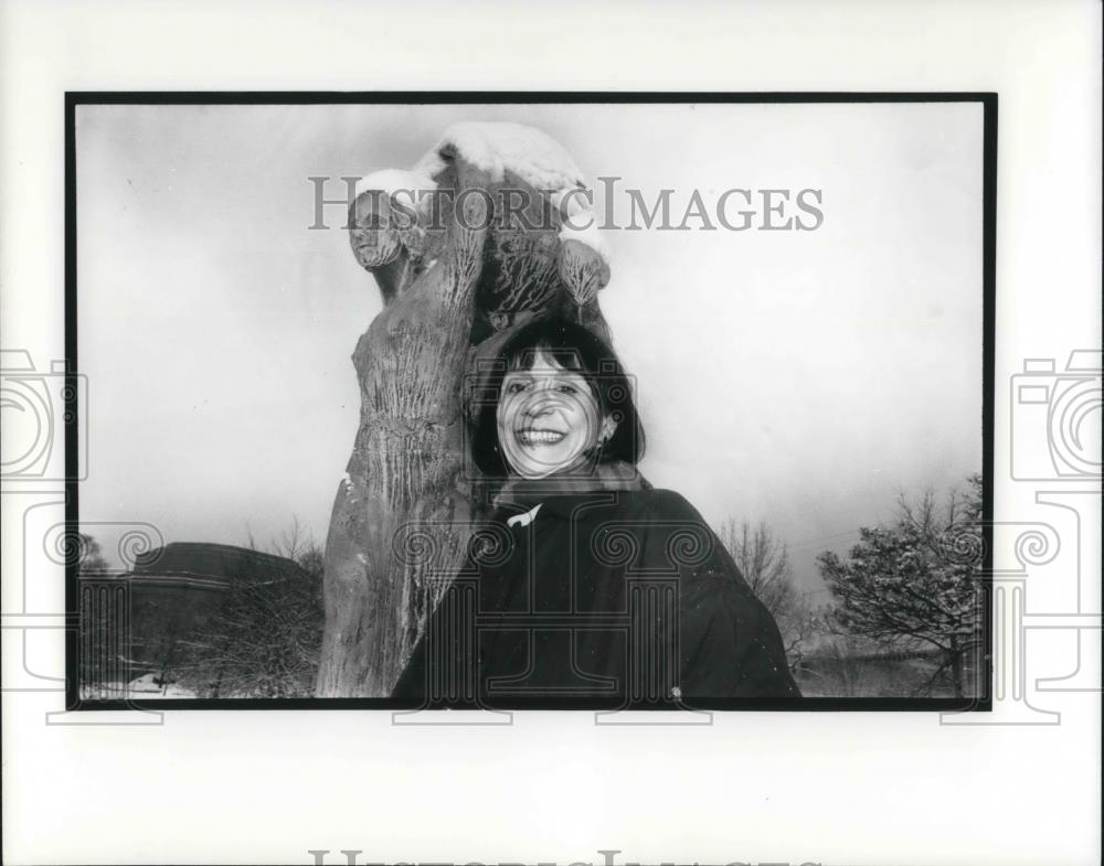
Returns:
[[[506,374],[498,402],[498,441],[510,469],[544,478],[586,462],[584,452],[616,426],[602,418],[591,386],[538,351],[530,370]]]

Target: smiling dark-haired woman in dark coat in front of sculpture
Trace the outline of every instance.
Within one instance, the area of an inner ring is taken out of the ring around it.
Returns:
[[[698,511],[637,471],[613,351],[562,319],[498,350],[471,450],[489,520],[392,694],[411,707],[799,697],[778,629]]]

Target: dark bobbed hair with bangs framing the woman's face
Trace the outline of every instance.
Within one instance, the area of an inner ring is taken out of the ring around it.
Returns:
[[[481,365],[487,378],[478,386],[470,421],[471,456],[488,475],[502,478],[509,467],[498,443],[498,402],[506,374],[532,367],[538,351],[565,370],[578,373],[591,386],[602,416],[617,423],[602,445],[597,462],[619,460],[636,464],[644,457],[644,427],[633,402],[633,388],[614,350],[590,329],[561,318],[538,319],[506,339],[490,363]]]

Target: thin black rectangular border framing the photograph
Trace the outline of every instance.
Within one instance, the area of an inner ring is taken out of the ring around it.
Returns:
[[[65,94],[65,528],[70,538],[79,532],[78,477],[79,431],[77,357],[77,189],[76,108],[82,105],[526,105],[526,104],[849,104],[849,103],[977,103],[984,109],[983,226],[981,226],[981,475],[983,475],[983,599],[986,652],[979,677],[981,694],[966,698],[904,697],[803,697],[723,698],[694,702],[701,710],[860,710],[860,712],[991,712],[992,709],[992,492],[994,396],[996,332],[997,239],[997,94],[983,92],[528,92],[528,90],[385,90],[385,92],[112,92],[70,90]],[[66,557],[65,609],[67,619],[78,618],[78,562]],[[79,697],[78,634],[65,633],[65,703],[67,710],[166,710],[166,709],[416,709],[391,698],[140,698],[82,701]],[[513,698],[495,710],[615,709],[616,704],[586,699],[564,706],[562,698]],[[647,709],[633,705],[631,710]],[[659,706],[657,709],[669,709]]]

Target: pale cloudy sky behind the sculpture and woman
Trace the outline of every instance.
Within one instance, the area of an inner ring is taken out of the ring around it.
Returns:
[[[307,178],[410,168],[458,120],[537,126],[676,220],[694,189],[821,191],[811,232],[606,232],[601,296],[644,474],[714,527],[767,522],[803,587],[899,489],[980,471],[979,105],[82,106],[83,521],[325,539],[381,300],[342,209],[308,231]]]

